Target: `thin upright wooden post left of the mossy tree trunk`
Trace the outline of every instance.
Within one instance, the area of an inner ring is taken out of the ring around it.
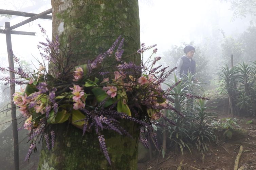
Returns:
[[[10,32],[10,22],[5,22],[5,36],[6,45],[8,52],[9,69],[14,69],[13,63],[13,50],[12,50],[12,40]],[[15,75],[10,71],[10,79],[14,79]],[[14,170],[19,170],[19,139],[18,139],[18,126],[16,118],[16,105],[13,102],[13,94],[15,93],[15,82],[10,82],[10,95],[11,95],[11,114],[12,114],[12,126],[13,126],[13,140],[14,140]]]

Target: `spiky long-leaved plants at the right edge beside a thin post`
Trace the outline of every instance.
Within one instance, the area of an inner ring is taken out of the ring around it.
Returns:
[[[256,113],[256,62],[238,63],[233,68],[222,66],[218,73],[220,92],[226,93],[233,107],[251,115]],[[240,113],[243,113],[240,112]]]

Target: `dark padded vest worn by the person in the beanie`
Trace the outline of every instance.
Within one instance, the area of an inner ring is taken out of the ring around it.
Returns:
[[[187,73],[191,73],[192,75],[196,73],[196,62],[194,59],[190,60],[186,56],[181,57],[183,64],[180,69],[180,77],[183,77],[183,75],[187,75]]]

